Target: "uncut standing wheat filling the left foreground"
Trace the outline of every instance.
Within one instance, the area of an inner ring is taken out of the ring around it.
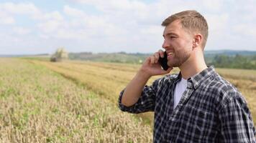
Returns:
[[[28,61],[0,65],[0,142],[152,142],[141,119],[84,86]]]

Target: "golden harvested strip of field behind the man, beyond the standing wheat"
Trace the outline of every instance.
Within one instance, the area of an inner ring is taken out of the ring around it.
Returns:
[[[60,63],[50,63],[48,61],[31,61],[35,64],[52,69],[64,77],[73,79],[78,83],[85,84],[91,91],[102,95],[116,104],[119,92],[126,87],[128,82],[136,74],[140,65],[138,64],[116,64],[91,61],[65,61]],[[171,73],[178,73],[178,69],[173,69]],[[227,81],[234,84],[239,92],[248,102],[252,119],[256,124],[256,70],[248,69],[218,69],[216,71]],[[151,84],[161,76],[152,77],[147,84]],[[142,117],[143,121],[152,127],[153,114],[143,113],[136,116]]]

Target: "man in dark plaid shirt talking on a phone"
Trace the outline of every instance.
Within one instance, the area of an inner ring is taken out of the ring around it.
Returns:
[[[119,97],[124,112],[155,112],[154,142],[255,142],[255,127],[242,94],[204,61],[208,25],[197,11],[163,21],[167,71],[157,51],[142,64]],[[168,74],[173,67],[179,74]],[[150,77],[168,74],[145,85]]]

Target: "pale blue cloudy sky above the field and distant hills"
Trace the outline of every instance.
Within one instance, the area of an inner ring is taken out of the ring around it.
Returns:
[[[255,0],[0,0],[0,54],[153,53],[162,21],[184,10],[207,20],[206,50],[256,51]]]

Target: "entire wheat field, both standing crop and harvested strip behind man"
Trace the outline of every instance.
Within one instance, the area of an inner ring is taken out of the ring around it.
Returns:
[[[140,65],[35,59],[0,64],[1,142],[152,142],[153,113],[117,107],[119,92]],[[255,122],[256,71],[216,71],[242,92]]]

